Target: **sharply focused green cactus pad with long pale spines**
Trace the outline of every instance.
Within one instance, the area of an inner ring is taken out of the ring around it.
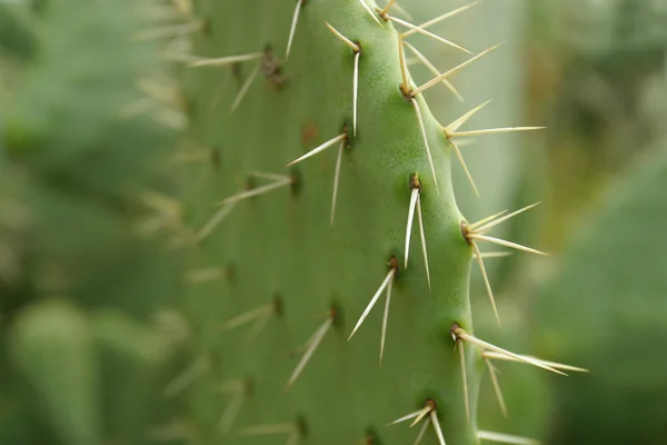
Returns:
[[[460,140],[534,128],[460,130],[482,106],[438,122],[425,95],[496,47],[466,49],[401,11],[200,1],[183,19],[191,51],[170,56],[187,66],[187,146],[210,156],[182,178],[195,355],[171,388],[187,389],[198,443],[527,443],[478,425],[482,374],[498,359],[561,373],[475,336],[479,246],[541,253],[488,235],[525,209],[467,221],[450,180]],[[412,79],[416,33],[460,65]]]

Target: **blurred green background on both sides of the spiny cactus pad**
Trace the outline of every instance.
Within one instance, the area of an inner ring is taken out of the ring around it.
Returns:
[[[399,3],[415,22],[466,4]],[[0,0],[0,444],[196,436],[176,397],[201,368],[180,289],[226,271],[182,265],[175,170],[216,151],[183,150],[182,65],[157,57],[187,49],[190,8]],[[162,26],[182,36],[146,32]],[[590,369],[500,365],[509,417],[485,382],[480,424],[667,443],[667,1],[485,0],[436,29],[474,51],[506,42],[451,79],[465,103],[429,91],[441,122],[494,99],[470,128],[547,127],[462,147],[480,198],[455,167],[470,219],[541,201],[499,234],[552,254],[487,261],[501,332],[474,270],[477,329]],[[412,42],[442,71],[465,60]]]

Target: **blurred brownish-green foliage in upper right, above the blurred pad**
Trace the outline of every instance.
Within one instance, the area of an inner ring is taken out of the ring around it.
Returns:
[[[665,82],[667,3],[545,0],[530,6],[529,96],[531,113],[547,126],[551,189],[544,233],[559,248],[591,197],[664,131],[655,125],[650,102],[654,83]]]

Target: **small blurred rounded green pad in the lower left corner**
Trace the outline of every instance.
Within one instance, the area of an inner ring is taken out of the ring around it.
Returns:
[[[99,369],[86,315],[69,305],[26,309],[10,340],[19,369],[39,394],[39,406],[68,444],[100,443]]]

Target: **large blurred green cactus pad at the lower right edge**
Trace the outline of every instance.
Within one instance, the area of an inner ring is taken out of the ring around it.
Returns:
[[[591,369],[554,392],[550,443],[667,441],[666,141],[591,209],[536,300],[544,354]]]

